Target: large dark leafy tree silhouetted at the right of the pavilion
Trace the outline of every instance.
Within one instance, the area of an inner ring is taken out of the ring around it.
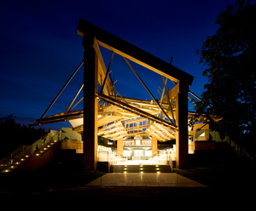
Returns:
[[[200,63],[207,66],[203,76],[208,83],[202,101],[195,100],[198,114],[190,123],[204,114],[212,130],[241,144],[241,140],[252,139],[256,126],[256,5],[239,0],[218,15],[216,24],[216,34],[197,50]],[[212,117],[222,120],[215,123]]]

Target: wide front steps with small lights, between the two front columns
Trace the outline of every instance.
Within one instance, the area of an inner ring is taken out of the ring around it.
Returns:
[[[170,165],[112,165],[109,173],[172,173]]]

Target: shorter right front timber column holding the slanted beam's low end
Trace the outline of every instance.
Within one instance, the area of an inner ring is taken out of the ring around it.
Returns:
[[[188,166],[188,92],[187,84],[178,83],[178,93],[176,96],[176,123],[178,131],[176,133],[176,167],[186,168]]]

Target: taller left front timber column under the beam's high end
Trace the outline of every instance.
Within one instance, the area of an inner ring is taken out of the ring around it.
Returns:
[[[97,115],[98,58],[94,36],[83,37],[84,47],[84,169],[96,170],[97,166]]]

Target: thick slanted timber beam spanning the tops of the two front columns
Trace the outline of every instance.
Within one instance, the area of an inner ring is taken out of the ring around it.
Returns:
[[[178,69],[175,66],[170,65],[164,60],[160,60],[152,54],[144,51],[141,48],[137,48],[131,43],[114,36],[108,31],[91,24],[90,22],[80,19],[77,32],[80,36],[85,34],[91,34],[96,36],[98,43],[116,54],[119,54],[129,60],[136,62],[137,64],[148,68],[160,74],[163,77],[167,77],[174,82],[183,81],[190,86],[194,80],[194,77],[189,73]]]

